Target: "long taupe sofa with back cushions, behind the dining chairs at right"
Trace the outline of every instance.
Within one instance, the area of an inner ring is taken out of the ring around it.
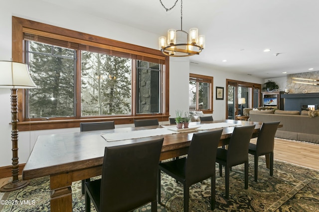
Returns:
[[[251,110],[249,121],[280,121],[283,127],[278,128],[276,137],[298,141],[319,143],[319,111],[269,110],[263,112]]]

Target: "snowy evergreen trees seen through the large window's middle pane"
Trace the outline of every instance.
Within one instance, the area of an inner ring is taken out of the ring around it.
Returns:
[[[82,115],[131,113],[130,59],[82,51]]]

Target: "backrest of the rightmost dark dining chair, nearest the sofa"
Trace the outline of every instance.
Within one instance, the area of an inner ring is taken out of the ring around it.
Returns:
[[[280,121],[263,123],[256,143],[257,155],[264,155],[274,151],[274,139],[279,123]]]

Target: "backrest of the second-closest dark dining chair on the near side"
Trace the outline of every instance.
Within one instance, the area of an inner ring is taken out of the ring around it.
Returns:
[[[222,129],[194,133],[186,160],[186,186],[215,175],[216,152]]]

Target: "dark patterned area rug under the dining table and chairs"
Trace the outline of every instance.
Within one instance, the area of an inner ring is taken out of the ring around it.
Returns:
[[[214,212],[319,212],[319,171],[288,164],[274,163],[274,176],[269,176],[264,157],[259,159],[258,183],[254,182],[253,157],[249,163],[249,188],[244,189],[243,166],[232,168],[230,173],[229,199],[224,198],[225,181],[218,175],[216,165],[216,209]],[[182,185],[161,174],[161,200],[158,212],[182,212]],[[84,195],[81,182],[72,184],[73,211],[84,212]],[[47,212],[50,211],[49,178],[31,180],[29,186],[18,191],[4,193],[0,212]],[[22,201],[22,202],[20,202]],[[23,202],[24,201],[24,202]],[[125,201],[125,200],[123,200]],[[190,211],[210,211],[210,180],[197,183],[190,188]],[[139,209],[150,212],[151,205]],[[94,212],[93,206],[91,211]],[[138,210],[136,210],[138,211]]]

